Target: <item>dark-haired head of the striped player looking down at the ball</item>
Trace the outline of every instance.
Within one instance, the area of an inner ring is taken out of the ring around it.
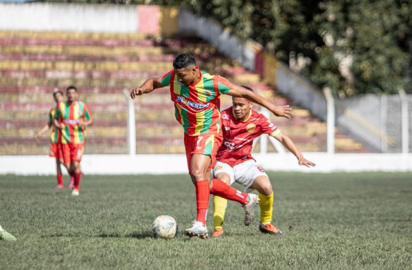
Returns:
[[[185,85],[193,84],[198,79],[196,60],[189,53],[181,53],[173,61],[173,70],[179,82]]]

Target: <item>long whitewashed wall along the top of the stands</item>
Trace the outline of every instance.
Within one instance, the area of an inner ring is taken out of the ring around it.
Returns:
[[[0,3],[0,29],[73,32],[137,32],[135,5]]]

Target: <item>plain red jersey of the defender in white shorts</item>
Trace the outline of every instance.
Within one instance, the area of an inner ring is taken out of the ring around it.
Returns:
[[[223,143],[216,159],[231,167],[246,160],[251,155],[253,140],[262,134],[275,136],[280,130],[264,115],[251,110],[246,121],[238,121],[233,116],[232,107],[222,111]]]

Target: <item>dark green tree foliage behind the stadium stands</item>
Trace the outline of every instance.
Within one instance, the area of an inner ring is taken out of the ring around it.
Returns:
[[[184,5],[260,42],[339,97],[412,93],[412,0],[64,1]]]

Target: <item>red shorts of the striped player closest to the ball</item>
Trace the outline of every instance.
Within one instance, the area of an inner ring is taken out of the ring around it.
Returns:
[[[185,149],[186,149],[186,159],[187,168],[190,171],[190,162],[192,162],[193,154],[203,154],[205,156],[210,156],[211,162],[209,165],[209,170],[216,164],[216,154],[218,149],[222,144],[222,132],[219,134],[215,133],[205,133],[199,136],[189,136],[185,134]]]

